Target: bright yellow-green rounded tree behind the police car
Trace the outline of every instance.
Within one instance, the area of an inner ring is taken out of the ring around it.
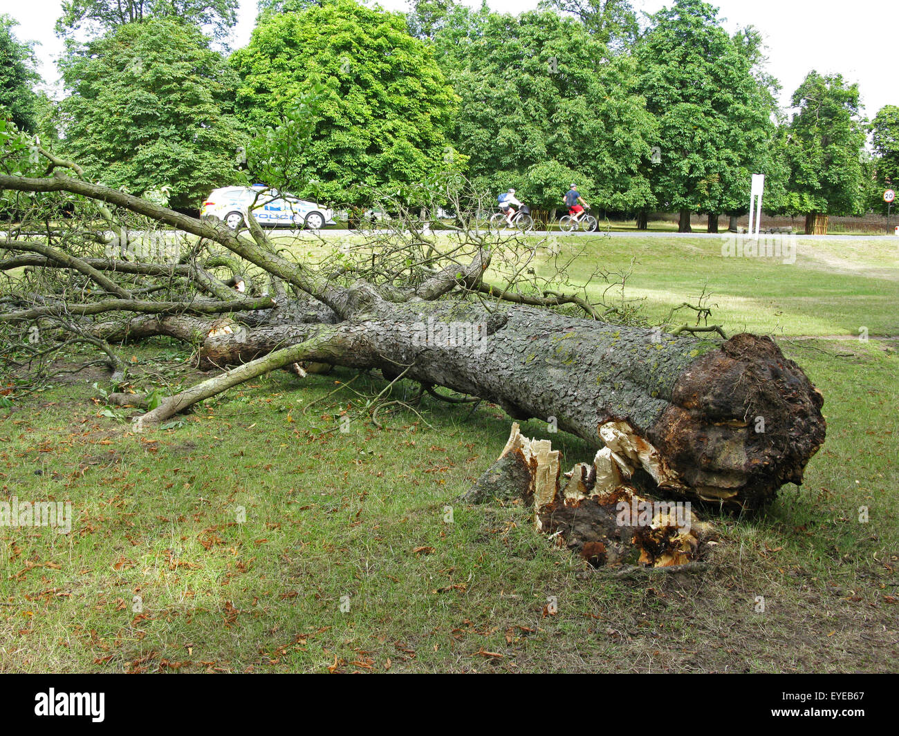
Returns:
[[[404,16],[351,0],[261,19],[232,55],[245,120],[278,125],[312,84],[323,85],[311,141],[295,160],[316,198],[357,203],[457,160],[445,130],[457,99]]]

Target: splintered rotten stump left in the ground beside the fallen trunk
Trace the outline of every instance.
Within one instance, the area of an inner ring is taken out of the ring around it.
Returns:
[[[538,531],[593,567],[697,562],[710,539],[710,525],[693,514],[690,501],[653,501],[637,492],[629,482],[653,457],[652,448],[637,448],[615,424],[602,428],[606,446],[592,464],[578,463],[562,474],[559,451],[551,442],[528,439],[513,423],[500,457],[462,501],[523,499]]]

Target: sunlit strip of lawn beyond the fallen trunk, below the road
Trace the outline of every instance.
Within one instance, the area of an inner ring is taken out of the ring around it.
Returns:
[[[679,301],[695,302],[703,287],[711,292],[713,321],[730,332],[792,335],[899,334],[899,239],[797,239],[796,262],[778,258],[722,256],[722,239],[676,237],[590,239],[588,256],[571,269],[583,282],[596,262],[635,272],[626,296],[645,298],[647,314],[663,319]],[[583,238],[558,238],[560,261]],[[547,262],[543,272],[553,267]],[[604,286],[604,285],[603,285]],[[600,295],[600,285],[592,288]],[[613,290],[610,296],[617,294]]]

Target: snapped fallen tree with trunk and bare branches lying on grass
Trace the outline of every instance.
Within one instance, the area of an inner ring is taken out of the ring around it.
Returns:
[[[558,243],[478,226],[489,209],[456,179],[424,191],[426,210],[449,201],[458,213],[441,235],[417,214],[420,200],[395,200],[378,230],[343,243],[302,234],[287,247],[251,211],[234,232],[46,159],[49,175],[0,175],[0,191],[36,213],[0,240],[0,272],[22,274],[0,300],[0,326],[24,362],[78,340],[112,365],[115,343],[167,335],[222,369],[139,415],[138,429],[271,370],[314,363],[497,403],[513,419],[538,418],[597,447],[614,431],[634,492],[732,509],[758,508],[782,484],[801,483],[823,443],[822,396],[770,338],[635,324],[627,300],[608,303],[606,292],[566,280],[576,250],[560,263]],[[63,202],[80,219],[51,222],[48,208]],[[98,219],[108,228],[99,235]],[[174,258],[126,257],[123,221],[151,244],[154,234],[179,234]],[[500,283],[486,280],[491,268]],[[246,283],[250,293],[239,290]],[[35,328],[40,341],[30,339]]]

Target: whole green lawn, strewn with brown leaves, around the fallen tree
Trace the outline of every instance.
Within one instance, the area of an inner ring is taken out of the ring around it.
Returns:
[[[68,535],[0,528],[0,669],[899,669],[899,239],[800,239],[793,264],[710,239],[586,244],[583,274],[636,258],[627,294],[652,315],[706,286],[714,322],[774,335],[823,392],[806,483],[753,518],[711,515],[707,571],[616,579],[519,506],[459,505],[508,436],[493,406],[425,400],[343,433],[383,382],[277,372],[135,434],[88,369],[0,409],[0,500],[73,510]],[[200,377],[167,341],[126,350],[137,390]],[[592,457],[548,437],[565,466]]]

